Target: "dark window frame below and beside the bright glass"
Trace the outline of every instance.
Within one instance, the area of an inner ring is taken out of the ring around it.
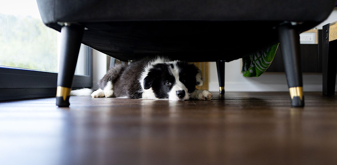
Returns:
[[[72,88],[92,87],[92,48],[85,46],[86,75],[74,75]],[[57,73],[0,66],[0,100],[56,96]]]

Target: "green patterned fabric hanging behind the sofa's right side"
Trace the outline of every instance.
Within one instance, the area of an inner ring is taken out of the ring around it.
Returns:
[[[242,58],[242,70],[245,77],[258,77],[262,75],[272,63],[278,43],[261,51]]]

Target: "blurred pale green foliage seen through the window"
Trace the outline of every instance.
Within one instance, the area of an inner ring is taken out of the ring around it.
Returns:
[[[57,32],[38,18],[0,13],[0,66],[57,72]]]

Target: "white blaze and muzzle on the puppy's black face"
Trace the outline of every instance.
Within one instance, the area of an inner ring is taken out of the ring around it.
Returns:
[[[175,78],[175,84],[173,85],[172,89],[170,92],[168,92],[168,99],[173,100],[173,101],[179,101],[179,100],[188,100],[189,95],[188,95],[188,89],[186,86],[179,80],[179,73],[180,69],[177,66],[177,61],[175,61],[173,64],[173,68],[170,66],[170,72]],[[184,90],[185,91],[185,96],[181,99],[177,96],[177,91],[179,90]]]

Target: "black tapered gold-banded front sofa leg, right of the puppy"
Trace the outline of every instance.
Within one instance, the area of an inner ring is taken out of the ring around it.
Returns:
[[[282,25],[278,32],[291,105],[304,107],[299,32],[292,25]]]

